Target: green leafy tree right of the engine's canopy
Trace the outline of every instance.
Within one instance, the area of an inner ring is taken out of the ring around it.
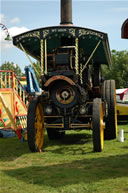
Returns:
[[[128,52],[112,50],[112,66],[110,70],[102,67],[102,73],[105,80],[114,79],[116,88],[128,87]]]

